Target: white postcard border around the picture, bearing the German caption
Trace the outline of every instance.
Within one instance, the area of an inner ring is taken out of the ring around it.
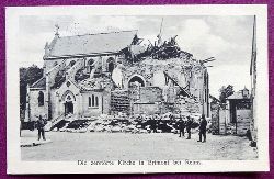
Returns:
[[[76,161],[21,161],[19,120],[19,60],[16,58],[20,15],[256,15],[258,23],[258,160],[203,160],[201,166],[78,166]],[[214,172],[269,171],[269,69],[267,5],[107,5],[16,7],[5,9],[7,32],[7,158],[8,174],[93,172]]]

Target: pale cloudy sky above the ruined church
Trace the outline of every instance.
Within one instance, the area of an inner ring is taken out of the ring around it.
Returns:
[[[210,94],[218,97],[218,90],[227,85],[235,91],[250,89],[253,16],[20,16],[20,65],[43,66],[44,47],[54,38],[56,24],[60,36],[138,30],[139,37],[153,42],[162,20],[163,40],[178,35],[181,49],[195,59],[216,58],[206,64],[213,66],[208,67]]]

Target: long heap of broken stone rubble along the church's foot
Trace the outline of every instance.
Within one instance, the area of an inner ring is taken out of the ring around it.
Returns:
[[[194,119],[192,128],[198,127],[197,119]],[[96,119],[75,120],[70,123],[60,121],[62,128],[55,127],[60,132],[106,132],[106,133],[178,133],[179,115],[165,113],[163,115],[135,115],[128,116],[125,113],[118,115],[102,114]],[[183,116],[183,120],[186,120]],[[196,130],[194,130],[196,132]]]

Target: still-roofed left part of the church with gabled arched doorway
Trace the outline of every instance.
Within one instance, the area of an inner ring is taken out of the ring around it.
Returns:
[[[44,76],[27,88],[27,119],[109,113],[114,87],[111,75],[126,58],[136,33],[60,37],[57,32],[45,45]]]

